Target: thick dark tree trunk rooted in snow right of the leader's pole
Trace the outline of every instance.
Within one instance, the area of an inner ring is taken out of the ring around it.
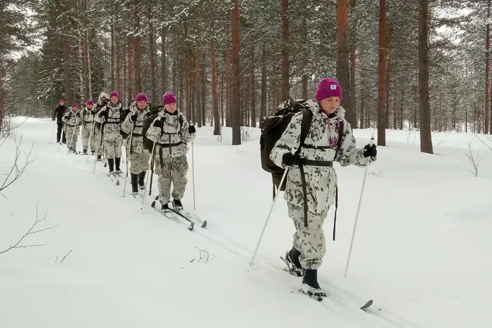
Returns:
[[[420,151],[433,154],[429,106],[429,4],[419,0],[418,62],[420,96]]]

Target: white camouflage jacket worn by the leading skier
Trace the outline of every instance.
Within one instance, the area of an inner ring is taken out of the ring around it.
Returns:
[[[302,147],[299,155],[301,158],[339,162],[342,166],[353,164],[356,166],[365,166],[369,159],[363,155],[363,149],[356,148],[356,140],[352,134],[352,129],[344,119],[345,110],[338,107],[334,114],[328,117],[321,111],[319,103],[316,100],[308,100],[307,105],[313,112],[311,128],[306,136],[304,143],[306,145],[316,145],[318,147],[329,147],[328,149],[315,149]],[[344,122],[344,131],[342,133],[342,143],[338,152],[336,147],[338,143],[339,122]],[[297,151],[301,135],[302,112],[292,117],[290,124],[277,141],[270,154],[270,159],[276,165],[285,168],[282,157],[287,152]],[[337,154],[337,158],[335,158]],[[308,211],[316,215],[325,214],[333,202],[335,202],[335,190],[337,186],[337,173],[332,166],[304,166],[304,176],[306,180]],[[294,165],[287,173],[287,185],[285,187],[284,198],[292,205],[304,207],[304,197],[302,192],[301,170],[299,166]]]

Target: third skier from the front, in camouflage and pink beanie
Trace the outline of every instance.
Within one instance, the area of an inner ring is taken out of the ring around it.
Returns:
[[[138,195],[138,186],[141,189],[145,188],[145,172],[149,168],[150,152],[143,147],[143,122],[150,113],[150,106],[147,103],[147,95],[138,93],[134,103],[131,103],[129,110],[124,115],[125,119],[122,123],[122,133],[127,138],[127,152],[130,162],[131,173],[131,194]],[[131,127],[133,126],[133,130]]]

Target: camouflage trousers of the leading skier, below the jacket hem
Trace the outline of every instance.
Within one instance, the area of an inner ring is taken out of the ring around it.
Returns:
[[[328,216],[325,211],[321,216],[308,211],[307,228],[304,227],[304,208],[287,202],[287,213],[294,221],[296,232],[292,246],[301,252],[299,261],[304,269],[318,269],[326,254],[326,241],[323,232],[323,222]]]

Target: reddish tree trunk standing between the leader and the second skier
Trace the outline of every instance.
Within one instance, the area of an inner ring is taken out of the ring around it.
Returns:
[[[233,2],[233,14],[231,19],[232,32],[232,68],[233,68],[233,94],[232,94],[232,125],[233,125],[233,145],[241,144],[241,126],[240,126],[240,57],[239,57],[239,4]]]

